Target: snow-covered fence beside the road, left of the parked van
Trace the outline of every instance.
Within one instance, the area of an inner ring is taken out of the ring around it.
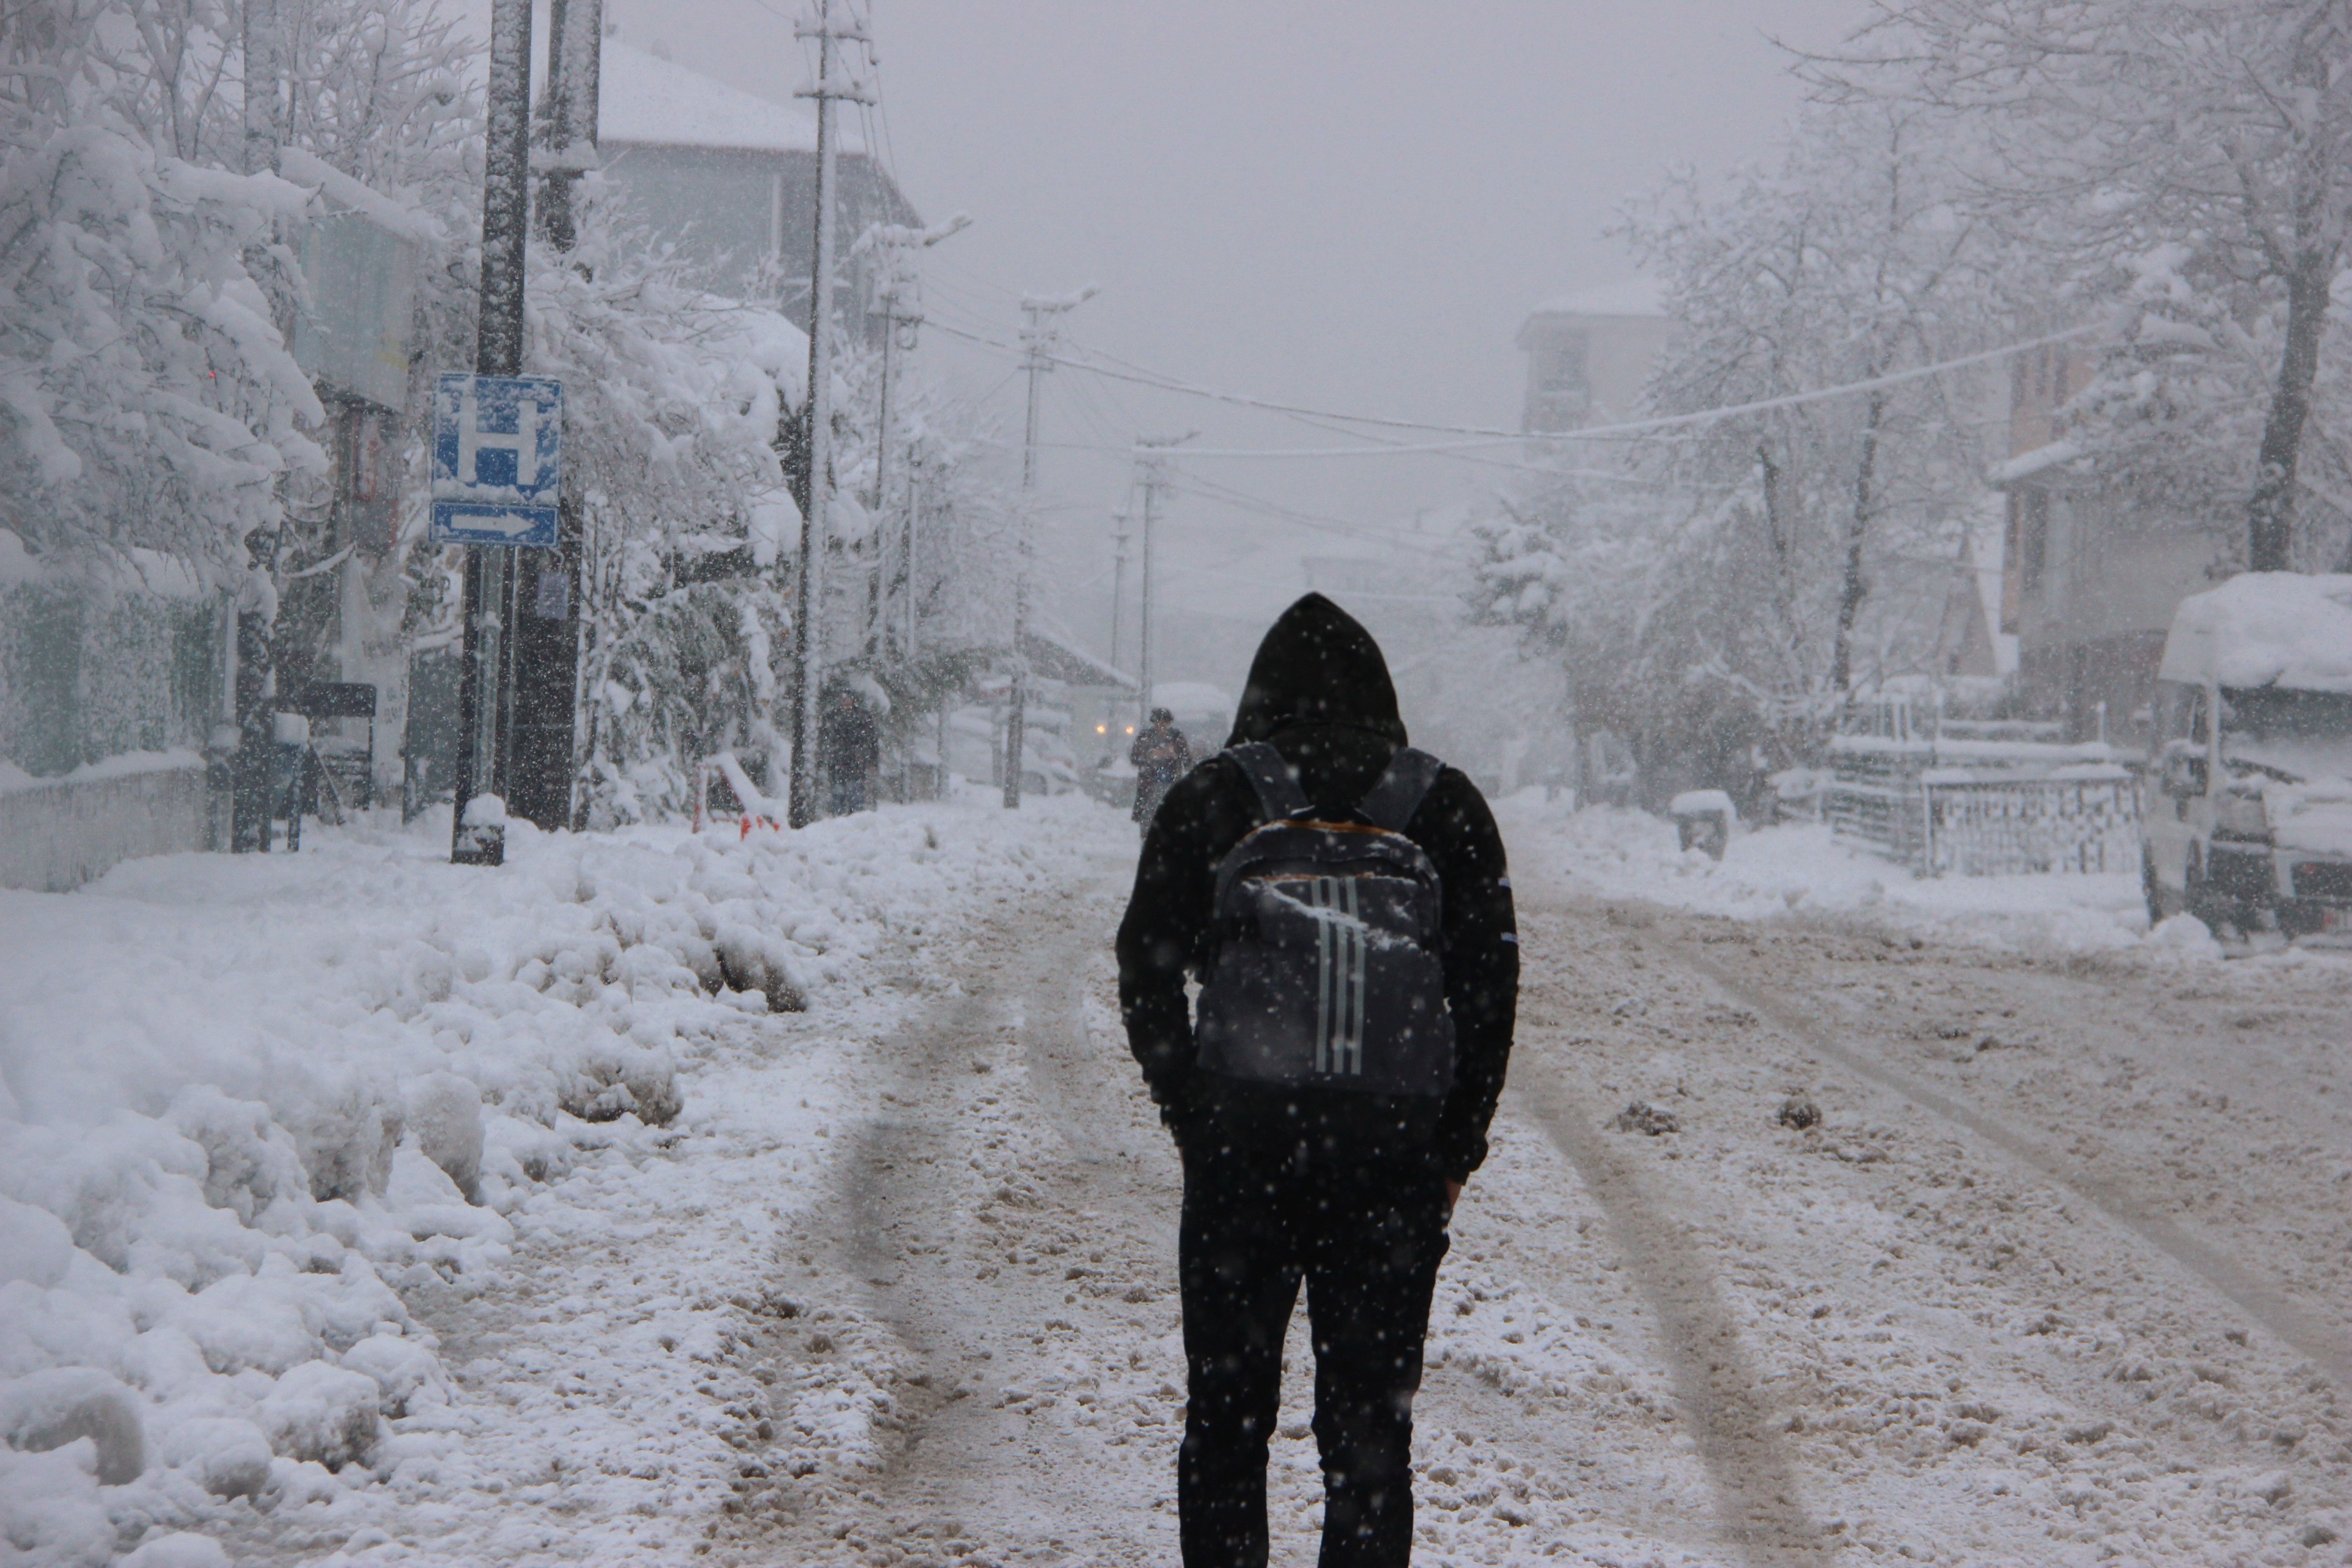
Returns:
[[[2107,745],[1837,736],[1830,827],[1919,877],[2129,872],[2140,790]]]

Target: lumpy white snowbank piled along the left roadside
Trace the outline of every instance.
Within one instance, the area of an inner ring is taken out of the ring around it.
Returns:
[[[722,1041],[870,1011],[908,931],[1033,882],[993,816],[515,823],[494,872],[442,820],[0,893],[0,1556],[221,1561],[167,1537],[430,1486],[482,1420],[419,1291],[494,1291],[550,1180],[708,1124]]]

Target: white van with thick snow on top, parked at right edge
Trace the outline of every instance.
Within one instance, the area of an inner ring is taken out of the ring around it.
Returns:
[[[2352,574],[2246,571],[2183,599],[2157,677],[2150,919],[2352,938]]]

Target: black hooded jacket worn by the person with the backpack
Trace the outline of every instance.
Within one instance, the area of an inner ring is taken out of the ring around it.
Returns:
[[[1319,813],[1352,811],[1404,745],[1397,689],[1371,632],[1322,595],[1291,604],[1249,668],[1228,745],[1247,741],[1272,743]],[[1211,1124],[1228,1138],[1294,1135],[1279,1128],[1298,1117],[1352,1138],[1404,1133],[1432,1140],[1449,1178],[1470,1175],[1486,1159],[1519,999],[1510,875],[1486,799],[1461,771],[1444,769],[1404,827],[1444,884],[1439,957],[1454,1016],[1454,1091],[1442,1107],[1240,1084],[1195,1067],[1185,971],[1207,976],[1216,959],[1216,865],[1256,825],[1256,790],[1240,764],[1216,755],[1169,790],[1143,839],[1120,922],[1120,1009],[1160,1114],[1178,1143]]]

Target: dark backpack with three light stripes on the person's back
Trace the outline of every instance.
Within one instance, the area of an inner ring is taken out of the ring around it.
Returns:
[[[1254,1084],[1444,1095],[1454,1018],[1439,961],[1437,867],[1404,837],[1444,766],[1399,748],[1357,806],[1315,816],[1263,741],[1228,752],[1263,823],[1216,867],[1216,961],[1200,992],[1200,1065]]]

